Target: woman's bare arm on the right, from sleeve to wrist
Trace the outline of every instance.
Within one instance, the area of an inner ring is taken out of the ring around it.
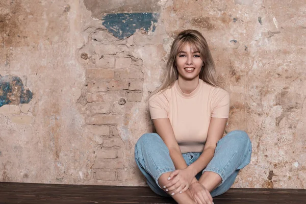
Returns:
[[[192,175],[196,175],[203,170],[208,163],[213,159],[217,142],[222,138],[227,118],[211,118],[207,140],[202,151],[201,156],[193,162],[188,168],[193,172]]]

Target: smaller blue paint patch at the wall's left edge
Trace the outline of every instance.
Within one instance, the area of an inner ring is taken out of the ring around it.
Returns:
[[[17,90],[18,93],[13,92]],[[16,97],[18,96],[18,97]],[[20,96],[20,98],[19,98]],[[17,101],[19,104],[28,104],[33,98],[33,93],[25,89],[19,77],[0,75],[0,107]]]

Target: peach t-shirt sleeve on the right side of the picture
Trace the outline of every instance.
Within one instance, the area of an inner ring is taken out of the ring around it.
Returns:
[[[230,94],[220,89],[212,99],[212,116],[213,118],[228,118],[230,113]]]

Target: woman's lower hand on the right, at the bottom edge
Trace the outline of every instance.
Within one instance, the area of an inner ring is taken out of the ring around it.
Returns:
[[[213,204],[213,197],[210,192],[199,182],[191,184],[189,190],[197,204]]]

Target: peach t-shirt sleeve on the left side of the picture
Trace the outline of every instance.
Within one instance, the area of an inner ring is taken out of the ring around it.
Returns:
[[[168,118],[169,103],[164,94],[158,93],[148,100],[151,119]]]

